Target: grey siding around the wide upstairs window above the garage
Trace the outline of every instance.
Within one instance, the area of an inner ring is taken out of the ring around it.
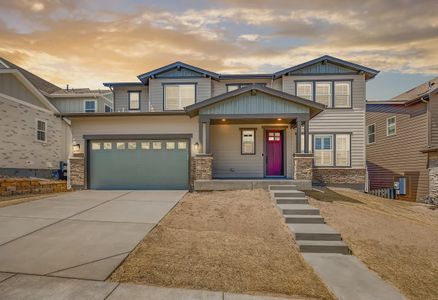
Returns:
[[[150,111],[163,111],[164,109],[164,87],[163,84],[171,83],[195,83],[196,102],[203,101],[211,97],[210,78],[165,78],[149,79],[149,99]]]

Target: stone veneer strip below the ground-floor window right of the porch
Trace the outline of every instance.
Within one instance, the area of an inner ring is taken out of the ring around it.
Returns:
[[[313,181],[324,184],[365,184],[366,169],[313,168]]]

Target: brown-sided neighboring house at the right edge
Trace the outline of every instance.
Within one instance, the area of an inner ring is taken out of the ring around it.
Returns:
[[[438,195],[438,77],[388,101],[367,102],[369,189],[406,181],[398,199]]]

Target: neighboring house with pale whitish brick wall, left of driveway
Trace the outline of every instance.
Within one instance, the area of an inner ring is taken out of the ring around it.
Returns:
[[[93,112],[112,107],[108,91],[66,91],[0,58],[0,175],[50,178],[71,152],[70,122],[59,114],[83,112],[87,101]]]

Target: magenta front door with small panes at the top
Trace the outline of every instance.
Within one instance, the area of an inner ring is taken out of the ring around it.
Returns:
[[[283,131],[266,131],[266,176],[283,176]]]

